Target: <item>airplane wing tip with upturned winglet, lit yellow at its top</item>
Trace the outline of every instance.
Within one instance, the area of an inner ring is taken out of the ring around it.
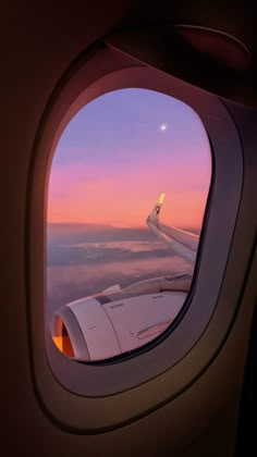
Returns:
[[[152,208],[146,220],[149,228],[183,259],[195,263],[196,252],[199,243],[199,236],[175,227],[168,227],[159,222],[159,213],[164,200],[164,194],[161,194],[157,203]]]

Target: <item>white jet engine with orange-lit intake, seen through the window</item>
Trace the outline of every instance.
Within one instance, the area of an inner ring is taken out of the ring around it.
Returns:
[[[105,360],[162,333],[179,314],[192,276],[157,277],[72,301],[53,316],[52,339],[68,357]]]

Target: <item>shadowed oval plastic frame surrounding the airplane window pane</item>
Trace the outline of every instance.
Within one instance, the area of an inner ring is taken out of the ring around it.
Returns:
[[[46,182],[57,141],[69,120],[85,101],[114,88],[130,87],[127,84],[163,91],[196,111],[213,147],[215,178],[198,250],[200,261],[183,321],[161,344],[138,357],[102,367],[84,366],[69,360],[54,347],[44,311]],[[235,182],[234,188],[229,190],[228,168]],[[225,313],[220,309],[220,304],[216,305],[230,254],[242,184],[240,138],[218,97],[102,46],[83,55],[63,76],[49,100],[35,141],[26,219],[28,335],[34,386],[45,410],[62,427],[91,433],[135,420],[142,416],[142,411],[149,412],[149,398],[150,409],[152,405],[156,408],[163,405],[187,388],[208,367],[236,309],[233,301],[227,307]],[[225,189],[228,192],[224,194]],[[222,220],[224,206],[228,207],[227,219]],[[220,221],[218,227],[216,220]],[[222,325],[217,325],[220,313]],[[192,328],[194,316],[199,319],[197,325]],[[162,379],[161,392],[157,392],[157,376],[159,381],[160,376]]]

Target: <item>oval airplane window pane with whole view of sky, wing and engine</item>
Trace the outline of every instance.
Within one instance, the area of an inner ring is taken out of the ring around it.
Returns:
[[[191,288],[211,178],[184,102],[125,88],[64,129],[48,189],[47,310],[68,357],[101,361],[164,332]]]

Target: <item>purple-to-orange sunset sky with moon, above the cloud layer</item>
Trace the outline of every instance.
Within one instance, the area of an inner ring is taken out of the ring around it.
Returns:
[[[48,222],[145,226],[160,193],[161,222],[201,224],[211,174],[205,127],[171,97],[122,89],[69,123],[53,158]]]

